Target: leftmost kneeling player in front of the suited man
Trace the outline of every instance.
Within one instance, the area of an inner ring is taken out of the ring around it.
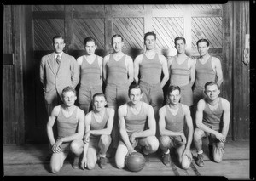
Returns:
[[[52,173],[61,170],[70,151],[74,154],[73,168],[78,168],[84,145],[84,111],[74,105],[77,99],[75,89],[71,86],[64,88],[61,97],[63,104],[54,107],[47,123],[47,135],[52,151],[49,166]],[[55,121],[58,129],[56,140],[53,132]]]

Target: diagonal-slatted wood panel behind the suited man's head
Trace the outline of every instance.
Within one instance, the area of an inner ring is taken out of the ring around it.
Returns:
[[[52,38],[64,36],[64,20],[33,20],[34,50],[51,50]]]

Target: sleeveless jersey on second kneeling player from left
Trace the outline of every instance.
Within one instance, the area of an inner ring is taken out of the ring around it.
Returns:
[[[102,122],[97,122],[94,116],[94,113],[91,112],[90,130],[99,130],[99,129],[106,128],[107,122],[108,122],[108,115],[109,115],[109,108],[105,108],[105,113],[104,113]],[[97,136],[91,134],[90,137],[97,137]]]

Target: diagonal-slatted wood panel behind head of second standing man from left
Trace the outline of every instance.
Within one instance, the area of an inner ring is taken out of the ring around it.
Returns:
[[[74,19],[73,46],[84,49],[84,38],[96,38],[98,48],[104,49],[104,20],[103,19]]]

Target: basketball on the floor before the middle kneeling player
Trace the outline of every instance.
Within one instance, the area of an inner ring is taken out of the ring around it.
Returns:
[[[126,160],[126,167],[132,172],[138,172],[145,166],[146,159],[139,152],[132,152]]]

